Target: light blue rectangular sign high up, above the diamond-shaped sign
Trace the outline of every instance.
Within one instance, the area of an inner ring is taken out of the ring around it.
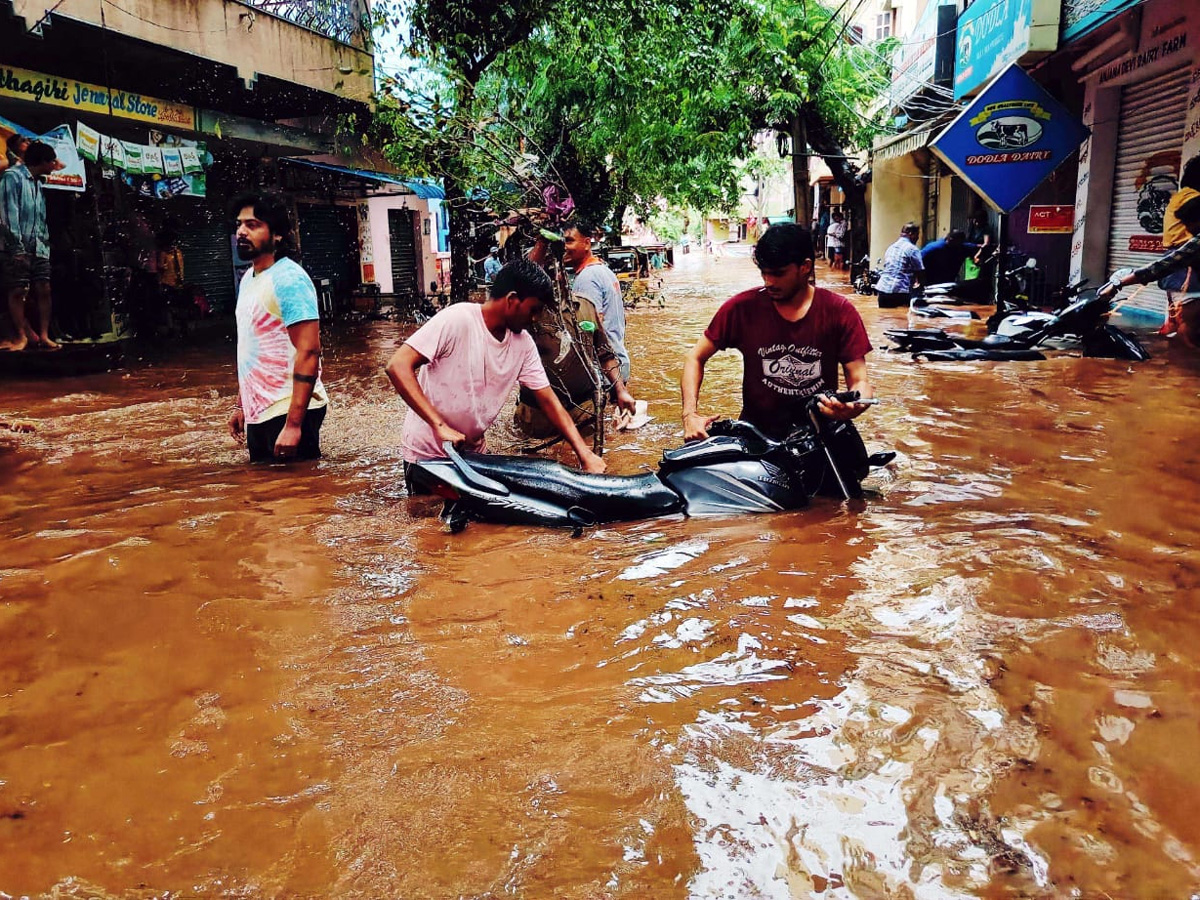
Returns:
[[[954,98],[961,100],[1030,48],[1033,0],[972,4],[959,17]]]

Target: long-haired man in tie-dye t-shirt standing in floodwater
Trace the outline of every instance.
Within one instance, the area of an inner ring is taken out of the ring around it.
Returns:
[[[292,235],[287,202],[276,194],[236,198],[238,253],[253,265],[238,292],[238,404],[229,433],[251,462],[320,456],[329,396],[320,383],[317,290],[284,256]]]

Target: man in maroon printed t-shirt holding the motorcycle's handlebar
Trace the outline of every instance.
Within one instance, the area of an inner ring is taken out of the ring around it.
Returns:
[[[804,421],[809,397],[838,390],[839,365],[846,390],[874,396],[863,317],[846,298],[812,284],[809,233],[796,224],[773,226],[755,247],[754,260],[763,287],[726,300],[684,362],[686,440],[708,437],[708,426],[718,419],[697,412],[704,364],[718,350],[742,353],[742,418],[776,438]],[[826,396],[820,408],[833,419],[853,419],[866,406]]]

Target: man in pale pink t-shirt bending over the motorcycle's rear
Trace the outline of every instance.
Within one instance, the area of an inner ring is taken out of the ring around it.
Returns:
[[[526,330],[553,298],[550,276],[527,259],[496,275],[482,305],[455,304],[409,337],[388,364],[388,377],[409,413],[401,455],[408,464],[445,456],[446,440],[484,451],[484,432],[520,384],[533,391],[546,418],[562,432],[586,472],[601,473],[605,462],[583,443],[554,396]]]

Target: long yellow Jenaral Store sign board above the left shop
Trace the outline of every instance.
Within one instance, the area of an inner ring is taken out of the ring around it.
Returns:
[[[196,130],[194,107],[134,91],[109,90],[98,84],[31,72],[28,68],[0,66],[0,97]]]

